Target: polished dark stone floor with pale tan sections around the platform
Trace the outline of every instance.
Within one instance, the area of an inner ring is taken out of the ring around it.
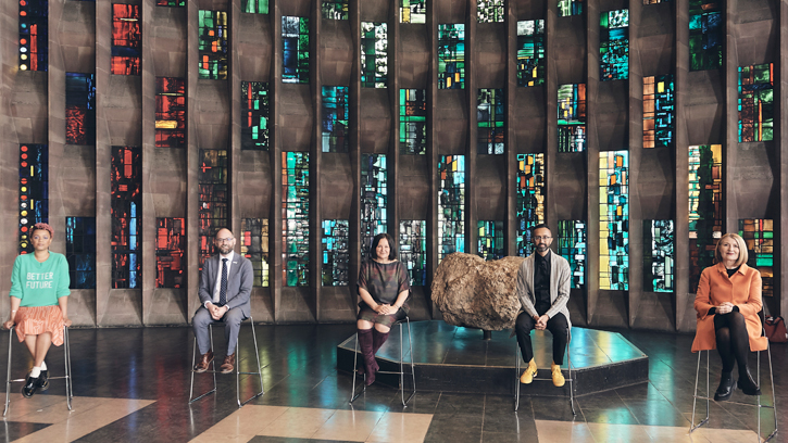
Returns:
[[[711,405],[711,421],[687,435],[692,410],[697,355],[691,337],[623,331],[649,355],[649,382],[577,397],[577,416],[559,397],[528,396],[523,389],[518,413],[501,395],[418,392],[408,408],[398,392],[373,384],[348,405],[351,376],[336,369],[336,346],[352,325],[258,326],[265,366],[265,395],[238,409],[235,377],[220,376],[216,395],[187,404],[191,360],[188,328],[72,330],[74,410],[65,406],[64,383],[23,398],[11,389],[4,419],[7,441],[26,442],[752,442],[755,408],[730,403]],[[221,331],[216,331],[221,343]],[[0,332],[0,355],[8,332]],[[250,370],[251,336],[241,329],[241,368]],[[223,346],[217,344],[221,358]],[[777,405],[788,405],[788,346],[773,347]],[[473,352],[470,350],[468,352]],[[14,343],[12,376],[22,377],[30,360]],[[754,365],[754,354],[752,364]],[[765,360],[765,356],[763,357]],[[53,376],[62,374],[62,349],[47,359]],[[712,389],[720,364],[712,354]],[[198,376],[207,388],[210,376]],[[241,379],[251,395],[252,380]],[[764,393],[768,381],[762,383]],[[762,397],[765,403],[771,398]],[[747,402],[738,392],[734,400]],[[788,415],[773,441],[788,441]],[[766,433],[771,410],[761,412]]]

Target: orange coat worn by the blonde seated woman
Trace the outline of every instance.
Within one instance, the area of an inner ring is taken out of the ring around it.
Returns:
[[[698,330],[692,342],[692,352],[716,349],[714,336],[714,316],[709,309],[724,302],[730,302],[739,307],[747,324],[747,334],[750,337],[750,351],[764,351],[768,344],[765,337],[761,337],[761,273],[747,264],[741,264],[739,270],[730,278],[725,265],[717,263],[703,269],[698,284],[698,294],[695,298],[695,311],[698,312]]]

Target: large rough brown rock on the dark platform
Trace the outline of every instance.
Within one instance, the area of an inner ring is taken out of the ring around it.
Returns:
[[[433,278],[433,302],[443,320],[491,331],[514,327],[521,309],[515,293],[517,269],[524,260],[485,262],[459,252],[443,258]]]

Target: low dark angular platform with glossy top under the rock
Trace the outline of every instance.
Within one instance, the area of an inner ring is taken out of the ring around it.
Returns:
[[[386,344],[377,353],[380,370],[399,369],[400,333],[391,330]],[[441,320],[412,321],[413,357],[418,391],[513,394],[515,387],[516,339],[511,330],[493,331],[491,340],[483,340],[483,331],[448,325]],[[552,385],[552,338],[550,332],[531,332],[534,358],[539,367],[537,378],[523,385],[521,395],[568,396],[570,383]],[[403,329],[405,362],[410,362],[408,327]],[[351,371],[355,334],[337,346],[337,368]],[[649,357],[617,332],[572,328],[572,370],[575,395],[585,395],[648,381]],[[359,356],[361,358],[361,356]],[[567,375],[564,359],[564,376]],[[525,364],[521,363],[524,368]],[[409,370],[410,368],[405,368]],[[379,375],[379,382],[399,385],[398,376]],[[405,380],[405,387],[410,387]]]

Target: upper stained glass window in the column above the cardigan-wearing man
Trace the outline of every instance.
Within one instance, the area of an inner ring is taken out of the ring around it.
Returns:
[[[517,86],[545,84],[545,21],[517,22]]]

